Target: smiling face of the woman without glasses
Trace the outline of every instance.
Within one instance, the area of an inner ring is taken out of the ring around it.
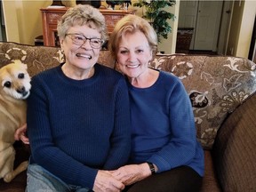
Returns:
[[[129,78],[138,78],[148,72],[152,51],[146,36],[136,31],[126,32],[117,47],[116,60],[120,70]]]

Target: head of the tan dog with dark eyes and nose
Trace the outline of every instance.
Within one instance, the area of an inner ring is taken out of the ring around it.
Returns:
[[[27,68],[20,60],[14,60],[13,63],[0,68],[1,94],[16,100],[27,99],[31,88]]]

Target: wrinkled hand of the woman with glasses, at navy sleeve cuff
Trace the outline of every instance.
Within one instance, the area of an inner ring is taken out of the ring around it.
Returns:
[[[108,171],[100,170],[95,178],[93,191],[95,192],[120,192],[124,189],[124,184],[116,180],[115,177]]]

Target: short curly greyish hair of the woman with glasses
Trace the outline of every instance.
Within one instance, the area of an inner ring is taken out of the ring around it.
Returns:
[[[88,4],[77,4],[75,7],[68,9],[58,22],[58,35],[64,38],[67,34],[68,28],[75,25],[83,26],[85,24],[90,28],[96,27],[104,41],[108,39],[104,16],[98,9],[93,8]]]

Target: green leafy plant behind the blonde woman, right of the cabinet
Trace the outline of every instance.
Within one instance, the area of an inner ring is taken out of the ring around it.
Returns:
[[[168,34],[172,32],[172,27],[167,20],[175,20],[175,15],[172,12],[164,11],[164,8],[175,4],[176,0],[139,0],[133,6],[145,7],[146,12],[142,17],[155,28],[158,42],[161,42],[162,37],[167,39]]]

